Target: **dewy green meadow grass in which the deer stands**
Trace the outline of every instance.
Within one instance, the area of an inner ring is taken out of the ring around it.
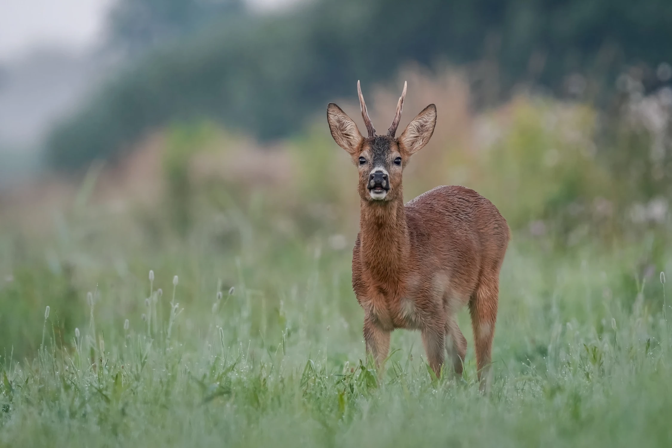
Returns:
[[[524,241],[513,244],[501,275],[495,377],[483,396],[472,344],[464,377],[437,380],[419,335],[397,331],[384,371],[375,371],[364,357],[347,249],[315,251],[297,241],[283,249],[294,254],[286,265],[267,275],[274,263],[267,241],[253,240],[249,249],[259,256],[182,248],[165,254],[164,265],[175,270],[156,269],[152,282],[139,272],[126,274],[126,286],[101,282],[88,304],[84,294],[76,304],[88,316],[76,332],[56,332],[65,328],[64,310],[50,306],[36,357],[12,359],[11,348],[2,357],[0,444],[672,441],[662,285],[654,275],[632,296],[622,286],[626,251],[547,259]],[[34,314],[32,324],[42,324]],[[468,314],[459,320],[471,342]]]

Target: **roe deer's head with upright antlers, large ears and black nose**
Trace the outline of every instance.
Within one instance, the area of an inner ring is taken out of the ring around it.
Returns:
[[[358,191],[365,201],[392,201],[403,199],[401,180],[402,173],[411,155],[419,151],[431,138],[436,126],[436,106],[428,105],[406,127],[401,136],[396,138],[396,128],[401,120],[401,109],[406,97],[406,83],[396,105],[396,113],[392,124],[385,135],[376,135],[366,103],[362,95],[360,81],[357,81],[360,97],[362,118],[368,132],[365,138],[360,134],[355,122],[335,103],[327,105],[327,121],[331,136],[335,142],[350,154],[353,163],[358,167],[360,181]]]

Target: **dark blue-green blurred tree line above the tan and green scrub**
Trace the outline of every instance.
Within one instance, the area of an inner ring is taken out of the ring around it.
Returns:
[[[136,57],[54,128],[48,160],[111,158],[151,128],[199,117],[286,136],[351,97],[357,79],[386,81],[408,62],[470,64],[485,92],[477,107],[517,83],[605,105],[627,67],[657,87],[670,24],[669,0],[315,0],[271,15],[240,0],[123,0],[111,40]]]

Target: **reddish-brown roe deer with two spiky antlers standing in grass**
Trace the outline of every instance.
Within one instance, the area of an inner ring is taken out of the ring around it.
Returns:
[[[404,205],[402,173],[434,132],[436,106],[425,107],[395,138],[404,83],[392,125],[378,136],[359,81],[357,89],[368,137],[335,103],[327,106],[327,120],[331,136],[360,173],[360,232],[352,251],[352,286],[364,308],[366,351],[380,366],[388,355],[392,330],[421,330],[427,361],[437,377],[446,350],[461,375],[466,339],[455,314],[468,304],[483,387],[509,226],[491,201],[466,187],[436,187]]]

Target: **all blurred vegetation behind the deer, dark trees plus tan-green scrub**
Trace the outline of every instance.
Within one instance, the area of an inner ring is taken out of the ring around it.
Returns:
[[[671,260],[671,23],[665,0],[114,1],[95,50],[114,62],[33,143],[31,175],[0,182],[0,347],[32,353],[46,304],[71,336],[87,291],[118,298],[111,326],[139,319],[150,268],[185,275],[194,304],[247,275],[263,326],[326,260],[356,321],[355,172],[324,109],[363,129],[358,79],[378,128],[405,80],[401,126],[437,104],[407,199],[472,187],[534,260],[628,254],[613,274],[632,304]]]

